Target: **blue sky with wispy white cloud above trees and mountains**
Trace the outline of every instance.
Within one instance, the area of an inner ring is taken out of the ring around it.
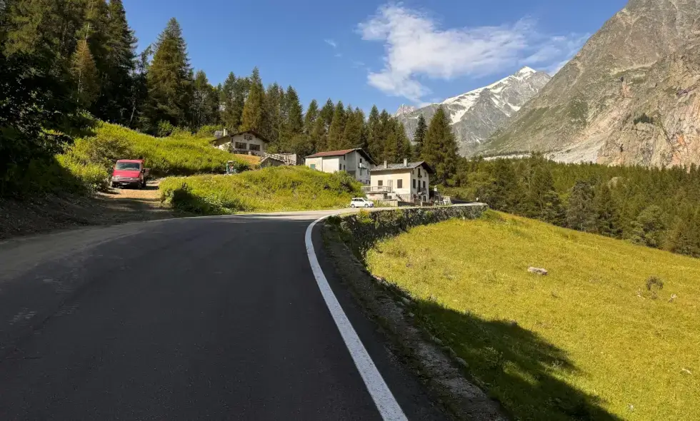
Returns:
[[[522,66],[554,73],[626,0],[124,0],[139,48],[180,22],[211,83],[267,85],[369,110],[441,101]]]

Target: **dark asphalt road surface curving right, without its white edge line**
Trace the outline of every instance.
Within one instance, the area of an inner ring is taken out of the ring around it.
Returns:
[[[321,214],[0,243],[0,420],[381,419],[306,255]],[[333,279],[406,417],[441,419]]]

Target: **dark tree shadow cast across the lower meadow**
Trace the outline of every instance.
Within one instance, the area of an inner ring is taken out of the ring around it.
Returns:
[[[517,323],[482,320],[428,300],[416,301],[416,315],[467,362],[471,380],[517,419],[621,420],[598,397],[560,380],[578,372],[566,351]]]

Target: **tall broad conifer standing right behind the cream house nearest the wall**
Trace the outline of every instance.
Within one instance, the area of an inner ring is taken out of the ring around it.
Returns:
[[[456,173],[457,143],[442,107],[435,111],[430,121],[421,155],[424,161],[434,168],[436,184],[447,183]]]

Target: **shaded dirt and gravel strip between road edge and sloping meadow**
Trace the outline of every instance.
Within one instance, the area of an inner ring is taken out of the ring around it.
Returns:
[[[466,379],[464,360],[420,327],[407,295],[371,275],[342,242],[333,225],[324,226],[323,238],[326,255],[334,264],[336,274],[364,308],[366,316],[385,334],[387,348],[416,372],[446,415],[455,420],[508,419],[498,402]]]

